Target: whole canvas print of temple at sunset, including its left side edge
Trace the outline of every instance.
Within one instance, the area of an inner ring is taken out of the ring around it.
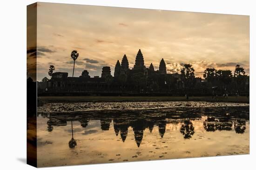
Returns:
[[[249,154],[249,16],[27,6],[27,163]]]

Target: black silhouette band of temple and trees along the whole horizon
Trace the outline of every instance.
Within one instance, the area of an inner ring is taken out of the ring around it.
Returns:
[[[239,66],[239,65],[237,65]],[[105,95],[105,96],[194,96],[249,95],[249,76],[232,76],[230,70],[218,70],[215,76],[202,79],[176,73],[167,73],[164,59],[156,70],[153,63],[145,66],[144,57],[139,49],[132,69],[128,57],[124,54],[115,63],[114,75],[109,66],[102,67],[101,76],[91,77],[88,70],[83,70],[81,76],[70,77],[67,72],[54,72],[51,79],[37,83],[38,95]],[[236,69],[239,69],[237,67]],[[213,70],[213,69],[206,69]],[[231,74],[231,76],[230,76]],[[46,90],[47,89],[47,90]],[[228,90],[227,90],[228,89]]]

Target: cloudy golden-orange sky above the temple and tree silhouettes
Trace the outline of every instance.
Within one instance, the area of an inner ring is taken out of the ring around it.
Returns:
[[[249,16],[54,3],[37,8],[38,80],[50,64],[72,76],[72,50],[80,54],[74,76],[84,69],[100,76],[103,66],[114,74],[124,54],[132,68],[139,49],[146,67],[158,69],[164,58],[168,73],[191,63],[200,77],[208,67],[234,71],[236,64],[249,74]]]

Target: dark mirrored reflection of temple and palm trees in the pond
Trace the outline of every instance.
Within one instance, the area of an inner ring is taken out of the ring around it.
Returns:
[[[159,135],[164,138],[168,124],[181,124],[180,133],[184,139],[191,139],[195,133],[193,120],[203,119],[203,128],[206,132],[231,131],[243,134],[246,130],[246,122],[249,121],[249,107],[238,110],[241,107],[226,108],[175,108],[156,110],[131,110],[131,111],[101,111],[80,113],[41,113],[42,117],[48,118],[48,131],[54,130],[54,126],[67,126],[67,121],[79,121],[83,128],[88,126],[90,120],[100,120],[102,131],[108,131],[113,121],[115,135],[120,134],[122,142],[128,135],[128,128],[134,132],[134,139],[138,147],[143,140],[143,132],[148,129],[152,132],[158,128]],[[74,134],[75,135],[75,134]],[[75,137],[69,145],[75,147]]]

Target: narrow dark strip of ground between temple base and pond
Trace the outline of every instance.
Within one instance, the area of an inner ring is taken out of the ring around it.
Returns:
[[[48,102],[108,102],[108,101],[218,101],[249,103],[249,97],[230,96],[228,98],[211,96],[41,96],[40,103]]]

